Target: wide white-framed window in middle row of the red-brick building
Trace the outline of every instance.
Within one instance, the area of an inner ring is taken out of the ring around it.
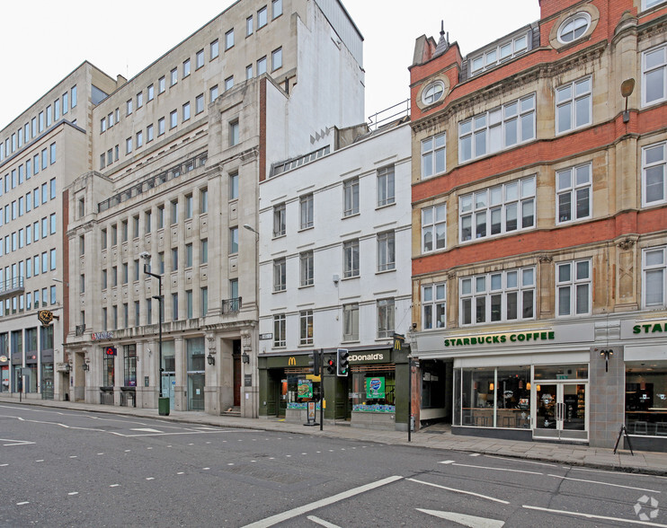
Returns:
[[[535,176],[458,198],[460,241],[535,227]]]

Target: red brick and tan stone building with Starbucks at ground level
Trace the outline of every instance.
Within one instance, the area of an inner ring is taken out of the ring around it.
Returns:
[[[415,44],[420,418],[665,449],[667,5],[539,4],[467,57]]]

